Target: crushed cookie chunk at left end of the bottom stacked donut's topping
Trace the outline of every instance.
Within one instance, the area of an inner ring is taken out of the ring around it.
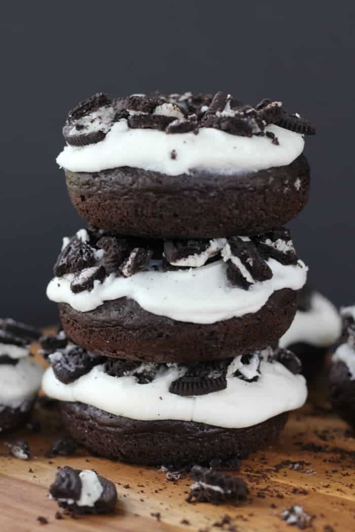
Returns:
[[[90,353],[78,345],[56,351],[48,358],[56,378],[64,384],[73,383],[105,360],[103,356]]]

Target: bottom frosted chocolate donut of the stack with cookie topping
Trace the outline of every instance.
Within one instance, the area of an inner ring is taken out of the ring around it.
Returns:
[[[268,347],[223,361],[140,363],[68,345],[43,379],[69,433],[90,451],[141,464],[245,458],[307,396],[299,360]]]

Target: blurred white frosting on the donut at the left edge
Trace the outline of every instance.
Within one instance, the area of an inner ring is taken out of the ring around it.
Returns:
[[[0,364],[0,405],[17,408],[31,400],[40,388],[43,370],[29,357],[16,365]]]

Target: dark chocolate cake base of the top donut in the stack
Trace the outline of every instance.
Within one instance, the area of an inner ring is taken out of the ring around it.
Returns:
[[[287,166],[232,175],[168,176],[130,167],[65,175],[73,205],[92,225],[157,238],[253,235],[281,227],[306,205],[310,184],[304,155]]]

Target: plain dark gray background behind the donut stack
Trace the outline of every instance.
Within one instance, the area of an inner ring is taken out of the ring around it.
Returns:
[[[223,89],[246,103],[280,99],[316,122],[293,239],[311,283],[338,305],[355,301],[353,2],[26,4],[0,18],[0,315],[57,319],[46,284],[62,236],[84,222],[55,157],[68,110],[100,90]]]

